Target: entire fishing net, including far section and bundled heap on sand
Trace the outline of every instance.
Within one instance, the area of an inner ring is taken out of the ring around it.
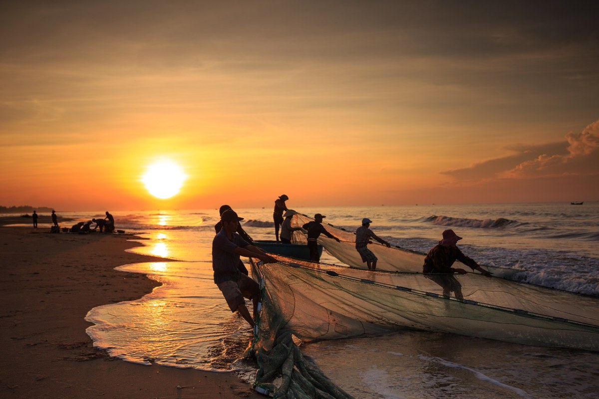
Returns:
[[[295,215],[292,225],[310,221]],[[599,298],[510,281],[516,270],[423,275],[424,254],[370,245],[377,271],[364,270],[355,235],[326,225],[341,242],[319,237],[343,266],[273,254],[253,263],[261,283],[253,354],[256,390],[277,398],[349,398],[294,343],[389,333],[405,328],[455,333],[525,345],[599,351]],[[296,243],[305,236],[294,233]],[[349,267],[348,267],[349,265]],[[492,269],[492,268],[489,268]],[[511,274],[510,274],[511,273]]]

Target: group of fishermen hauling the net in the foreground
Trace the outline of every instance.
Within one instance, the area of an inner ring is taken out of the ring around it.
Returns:
[[[288,209],[286,194],[279,196],[274,202],[273,220],[274,232],[277,243],[291,243],[292,233],[301,230],[307,236],[307,246],[310,250],[311,261],[319,263],[318,237],[324,234],[326,237],[340,242],[338,237],[329,233],[322,221],[325,215],[315,214],[314,220],[305,223],[302,227],[292,227],[292,217],[295,211]],[[107,212],[108,213],[108,212]],[[241,261],[241,257],[258,258],[264,263],[276,263],[276,258],[267,254],[258,246],[253,245],[252,237],[241,227],[243,218],[229,205],[223,205],[219,209],[220,221],[214,226],[216,236],[212,242],[212,268],[214,271],[214,284],[219,287],[231,312],[239,312],[241,316],[252,326],[255,326],[256,313],[258,312],[258,300],[260,288],[256,281],[249,277],[249,272]],[[370,229],[373,223],[369,218],[362,219],[362,226],[356,229],[355,248],[362,262],[368,270],[376,270],[378,258],[368,249],[371,240],[376,240],[382,245],[391,247],[386,240],[374,234]],[[280,237],[279,237],[280,231]],[[483,269],[476,261],[467,257],[456,245],[461,240],[453,230],[445,230],[443,239],[435,245],[424,258],[422,266],[423,274],[443,288],[443,296],[449,297],[454,293],[458,299],[463,299],[461,285],[453,276],[454,273],[465,274],[466,270],[453,268],[456,260],[461,261],[473,270],[478,270],[485,276],[491,276],[488,270]],[[253,314],[250,315],[244,298],[252,300]]]

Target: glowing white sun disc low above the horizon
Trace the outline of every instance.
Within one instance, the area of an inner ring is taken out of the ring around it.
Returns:
[[[179,193],[186,178],[187,176],[179,165],[165,160],[148,166],[141,181],[146,185],[150,194],[157,198],[167,199]]]

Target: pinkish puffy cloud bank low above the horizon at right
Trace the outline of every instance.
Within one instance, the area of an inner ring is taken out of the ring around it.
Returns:
[[[599,170],[599,120],[580,133],[568,132],[565,141],[534,146],[518,144],[507,149],[515,154],[441,174],[467,182],[595,173]]]

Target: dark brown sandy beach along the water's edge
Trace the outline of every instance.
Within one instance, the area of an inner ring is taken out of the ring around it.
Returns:
[[[264,398],[234,373],[143,366],[92,346],[86,313],[133,300],[156,282],[114,267],[152,261],[125,252],[126,234],[50,234],[0,219],[0,397],[6,398]],[[65,226],[68,223],[65,224]]]

